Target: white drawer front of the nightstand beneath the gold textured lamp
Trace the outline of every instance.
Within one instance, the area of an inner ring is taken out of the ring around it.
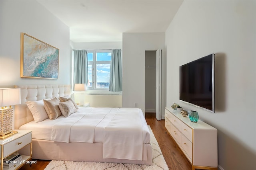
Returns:
[[[32,142],[32,132],[4,145],[4,157]]]

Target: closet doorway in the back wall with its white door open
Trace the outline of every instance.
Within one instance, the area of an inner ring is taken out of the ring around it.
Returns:
[[[145,51],[145,114],[161,120],[161,50]]]

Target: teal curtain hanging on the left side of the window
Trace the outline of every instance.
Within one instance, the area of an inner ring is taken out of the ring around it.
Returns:
[[[88,82],[87,50],[74,50],[74,84]]]

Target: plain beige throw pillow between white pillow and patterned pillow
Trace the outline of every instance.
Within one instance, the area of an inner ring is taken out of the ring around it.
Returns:
[[[44,100],[44,109],[51,120],[54,120],[61,115],[57,98],[53,98],[52,100]]]

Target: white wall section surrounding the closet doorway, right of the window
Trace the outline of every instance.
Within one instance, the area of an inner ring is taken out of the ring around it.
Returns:
[[[138,104],[145,113],[145,50],[162,49],[165,70],[165,33],[123,33],[123,107]],[[162,117],[165,106],[165,72],[162,74]]]

